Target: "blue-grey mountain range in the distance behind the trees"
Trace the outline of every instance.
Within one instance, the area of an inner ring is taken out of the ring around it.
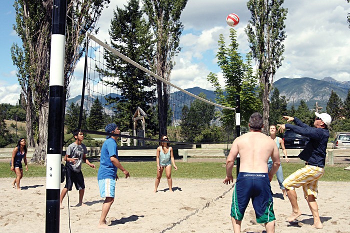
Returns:
[[[350,89],[350,81],[339,82],[332,77],[324,77],[322,80],[303,77],[303,78],[280,78],[273,82],[273,87],[279,90],[280,96],[285,96],[287,100],[287,107],[290,108],[294,104],[295,108],[299,105],[300,100],[304,100],[309,109],[312,109],[316,102],[319,107],[325,107],[327,105],[331,91],[333,90],[336,94],[344,100],[347,96],[347,92]],[[192,87],[185,89],[186,91],[198,95],[204,93],[206,99],[215,102],[215,93],[211,90],[206,90],[200,87]],[[179,92],[179,91],[178,91]],[[179,94],[175,92],[172,95]],[[115,94],[108,94],[108,96],[115,97]],[[87,96],[85,96],[86,99]],[[89,96],[93,100],[95,96]],[[101,104],[104,105],[105,99],[100,98]],[[74,98],[68,99],[67,106],[71,103],[80,105],[81,95],[75,96]],[[91,101],[92,104],[92,101]],[[175,112],[180,112],[182,104],[176,106]],[[91,107],[91,106],[88,106]]]

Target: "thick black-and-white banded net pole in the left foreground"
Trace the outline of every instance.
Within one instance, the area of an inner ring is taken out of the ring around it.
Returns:
[[[53,0],[46,155],[46,233],[59,233],[66,0]]]

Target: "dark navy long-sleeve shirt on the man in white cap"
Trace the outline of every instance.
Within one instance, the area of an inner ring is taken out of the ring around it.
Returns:
[[[294,117],[293,122],[295,125],[285,124],[285,128],[310,139],[298,157],[306,161],[308,165],[324,167],[329,131],[323,128],[310,127],[296,117]]]

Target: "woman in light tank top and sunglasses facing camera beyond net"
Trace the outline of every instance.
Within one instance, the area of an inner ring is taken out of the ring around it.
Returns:
[[[166,135],[161,137],[161,140],[168,141],[168,137]],[[168,142],[161,142],[160,146],[157,148],[156,152],[157,158],[157,177],[155,178],[155,186],[154,193],[157,192],[158,185],[160,182],[161,175],[165,168],[165,175],[167,179],[167,184],[169,186],[169,191],[172,192],[172,180],[171,180],[171,163],[174,166],[174,169],[177,170],[175,165],[174,155],[172,153],[172,147]]]

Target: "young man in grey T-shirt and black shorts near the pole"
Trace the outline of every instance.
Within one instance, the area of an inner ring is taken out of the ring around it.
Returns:
[[[82,140],[84,140],[84,133],[79,132],[79,130],[73,130],[73,136],[75,142],[71,143],[68,148],[66,155],[64,156],[66,179],[65,186],[62,189],[61,195],[59,197],[59,208],[63,209],[62,201],[68,191],[71,191],[73,184],[75,189],[79,191],[79,203],[76,206],[83,206],[82,198],[85,193],[85,182],[84,176],[81,172],[81,163],[84,161],[89,167],[95,169],[95,165],[91,164],[86,159],[87,149]]]

